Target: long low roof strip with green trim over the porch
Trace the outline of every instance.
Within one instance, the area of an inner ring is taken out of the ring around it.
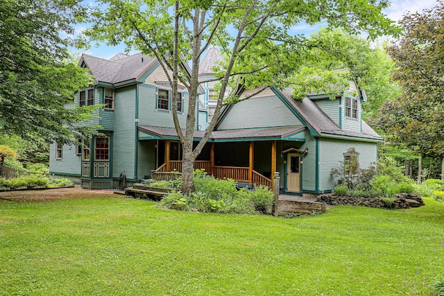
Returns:
[[[176,129],[162,128],[157,126],[139,125],[138,139],[178,139]],[[274,127],[274,128],[251,128],[240,130],[215,130],[212,132],[210,141],[305,141],[305,129],[303,125]],[[185,130],[182,130],[185,133]],[[205,131],[195,130],[194,139],[202,139]]]

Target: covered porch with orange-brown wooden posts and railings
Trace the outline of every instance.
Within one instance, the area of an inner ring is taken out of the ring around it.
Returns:
[[[178,160],[181,159],[180,154],[177,156],[173,151],[177,149],[177,140],[171,138],[176,130],[142,128],[143,134],[154,135],[156,132],[157,147],[162,147],[157,155],[157,169],[151,171],[151,178],[173,180],[178,177],[182,172],[182,161]],[[302,144],[305,142],[304,132],[305,128],[301,127],[215,131],[194,162],[194,169],[203,169],[218,179],[230,178],[244,183],[244,186],[273,188],[272,175],[278,171],[277,160],[278,153],[282,154],[282,142],[288,143],[291,138]],[[203,134],[195,134],[197,143],[200,137],[196,136],[202,137]]]

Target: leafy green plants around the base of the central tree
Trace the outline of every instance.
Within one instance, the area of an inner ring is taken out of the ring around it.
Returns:
[[[176,180],[176,184],[178,183],[180,179]],[[273,192],[265,186],[257,186],[252,190],[238,190],[237,182],[234,180],[216,180],[205,171],[196,170],[193,176],[193,187],[189,194],[183,195],[178,191],[169,193],[162,199],[160,205],[180,211],[268,214],[273,207]]]

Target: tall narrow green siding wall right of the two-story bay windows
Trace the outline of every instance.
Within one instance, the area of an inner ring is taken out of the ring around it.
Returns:
[[[114,92],[114,140],[112,176],[125,171],[128,179],[135,177],[135,85],[116,89]]]

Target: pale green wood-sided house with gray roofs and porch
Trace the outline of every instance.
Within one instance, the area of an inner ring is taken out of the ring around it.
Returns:
[[[126,66],[133,62],[146,64]],[[51,173],[78,177],[87,188],[108,188],[117,186],[123,172],[135,182],[181,171],[181,148],[170,114],[171,88],[155,60],[142,55],[111,60],[83,55],[80,65],[88,67],[97,81],[91,91],[78,94],[78,103],[105,103],[97,123],[107,136],[84,139],[89,148],[53,143]],[[256,91],[244,89],[239,103],[224,108],[195,168],[266,186],[272,185],[277,171],[286,193],[311,196],[332,191],[336,183],[330,172],[341,162],[359,162],[361,167],[376,162],[381,138],[361,119],[366,94],[357,91],[355,82],[334,100],[309,94],[297,101],[291,89],[275,87],[242,99]],[[185,127],[186,89],[180,94],[180,122]],[[203,134],[196,126],[196,143]],[[350,148],[359,154],[350,155]]]

